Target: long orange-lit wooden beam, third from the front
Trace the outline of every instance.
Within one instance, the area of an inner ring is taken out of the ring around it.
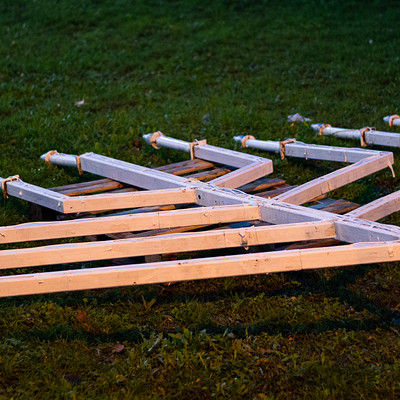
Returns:
[[[257,205],[201,207],[87,218],[70,221],[34,222],[0,228],[0,243],[16,243],[106,233],[144,231],[192,225],[212,225],[260,218]]]

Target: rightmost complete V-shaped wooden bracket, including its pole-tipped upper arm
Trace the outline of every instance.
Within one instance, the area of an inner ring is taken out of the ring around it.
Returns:
[[[236,136],[234,140],[241,142],[242,146],[244,143],[245,147],[267,151],[275,151],[279,145],[279,142],[256,140],[253,137],[249,139]],[[291,204],[307,203],[321,194],[329,193],[387,167],[393,172],[394,159],[393,153],[390,152],[307,145],[301,142],[294,142],[285,144],[285,156],[352,163],[352,165],[314,179],[276,197],[276,200]]]

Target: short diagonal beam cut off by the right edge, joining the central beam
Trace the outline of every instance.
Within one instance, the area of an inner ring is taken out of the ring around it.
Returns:
[[[364,218],[369,221],[378,221],[400,211],[400,191],[381,197],[357,210],[349,212],[347,215],[353,218]]]

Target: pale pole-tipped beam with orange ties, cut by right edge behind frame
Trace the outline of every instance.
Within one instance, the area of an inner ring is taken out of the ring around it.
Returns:
[[[329,124],[312,124],[311,127],[319,135],[332,135],[342,139],[358,139],[361,146],[372,144],[400,147],[400,134],[398,133],[377,131],[371,127],[361,129],[335,128]]]

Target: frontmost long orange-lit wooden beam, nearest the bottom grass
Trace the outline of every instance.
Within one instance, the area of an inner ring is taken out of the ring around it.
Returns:
[[[0,277],[1,296],[19,296],[176,281],[288,272],[400,260],[400,243],[360,243],[161,263]]]

